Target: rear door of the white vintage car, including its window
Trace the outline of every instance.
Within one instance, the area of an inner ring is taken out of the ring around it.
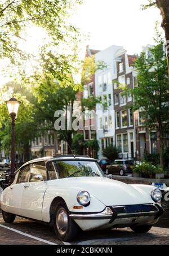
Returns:
[[[16,183],[11,184],[4,190],[3,202],[6,206],[6,211],[16,215],[20,215],[21,199],[26,182],[28,182],[30,164],[27,164],[20,169],[17,174]]]

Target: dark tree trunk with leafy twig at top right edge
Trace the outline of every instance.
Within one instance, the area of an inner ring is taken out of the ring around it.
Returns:
[[[157,6],[161,11],[162,16],[162,28],[166,34],[166,45],[169,45],[169,1],[168,0],[148,0],[147,5],[143,5],[143,8],[151,6]],[[169,79],[169,49],[167,49],[167,63],[168,63],[168,79]]]

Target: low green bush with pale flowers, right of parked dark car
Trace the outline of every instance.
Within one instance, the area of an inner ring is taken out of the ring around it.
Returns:
[[[163,172],[161,167],[154,166],[152,163],[149,163],[149,162],[143,162],[143,163],[140,163],[139,165],[137,164],[133,171],[144,173],[146,175]]]

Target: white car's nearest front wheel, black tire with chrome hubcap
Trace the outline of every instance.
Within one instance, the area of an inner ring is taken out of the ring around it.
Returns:
[[[65,220],[63,220],[64,218]],[[65,223],[63,223],[62,220]],[[71,242],[78,235],[79,227],[74,220],[69,217],[69,210],[64,201],[59,201],[57,203],[53,223],[54,231],[61,241]],[[59,226],[62,227],[63,230],[59,228]]]

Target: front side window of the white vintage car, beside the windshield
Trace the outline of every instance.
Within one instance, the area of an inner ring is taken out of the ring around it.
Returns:
[[[36,179],[36,175],[42,175],[42,179],[47,180],[46,165],[44,161],[32,164],[29,182],[42,181]]]

